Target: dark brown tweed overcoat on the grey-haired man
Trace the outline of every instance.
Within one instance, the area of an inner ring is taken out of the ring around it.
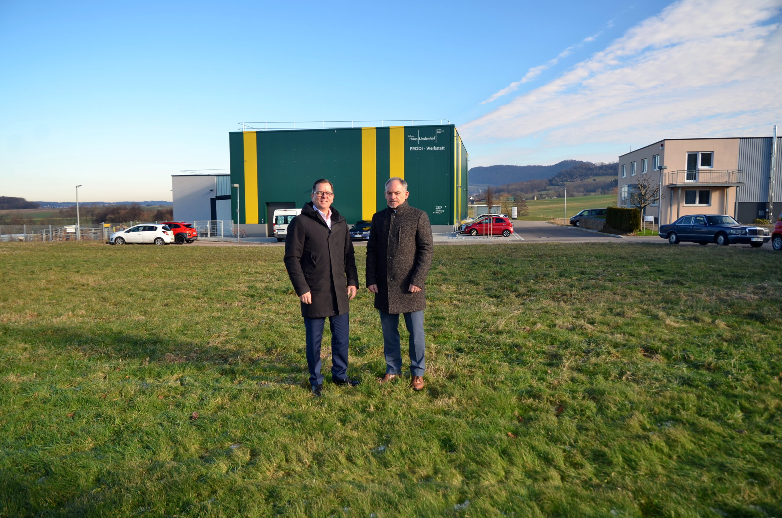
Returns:
[[[375,308],[411,313],[426,308],[426,275],[432,266],[432,226],[423,210],[402,203],[372,216],[367,243],[367,286],[378,285]],[[421,288],[411,293],[411,284]]]

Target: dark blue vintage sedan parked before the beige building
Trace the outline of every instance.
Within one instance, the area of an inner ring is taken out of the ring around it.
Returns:
[[[672,245],[692,241],[701,245],[717,243],[748,243],[755,248],[771,239],[768,228],[741,225],[726,214],[694,214],[682,216],[670,225],[660,225],[658,236]]]

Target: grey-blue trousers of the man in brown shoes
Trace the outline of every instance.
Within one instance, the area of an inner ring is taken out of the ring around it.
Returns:
[[[403,315],[407,332],[410,333],[410,373],[411,376],[423,376],[426,352],[424,311],[413,311]],[[386,374],[401,374],[402,351],[399,338],[399,315],[380,311],[380,326],[383,329],[383,354],[386,355]]]

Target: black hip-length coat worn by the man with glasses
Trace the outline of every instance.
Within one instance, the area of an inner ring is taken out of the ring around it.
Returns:
[[[345,218],[332,207],[332,228],[307,203],[288,225],[285,268],[302,296],[312,293],[312,304],[301,303],[304,318],[343,315],[349,311],[347,286],[358,286],[356,257]]]

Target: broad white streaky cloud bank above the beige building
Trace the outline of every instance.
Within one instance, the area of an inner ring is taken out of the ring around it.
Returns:
[[[624,149],[658,138],[766,135],[782,115],[782,31],[769,23],[780,8],[782,0],[675,2],[460,131],[497,150],[524,138]]]

